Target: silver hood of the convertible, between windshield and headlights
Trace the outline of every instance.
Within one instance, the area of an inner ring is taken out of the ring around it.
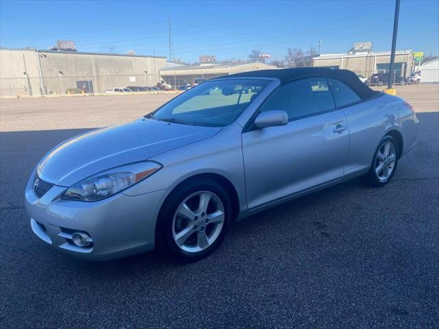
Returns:
[[[47,182],[71,186],[95,173],[209,138],[219,130],[152,119],[111,125],[58,145],[41,160],[37,173]]]

